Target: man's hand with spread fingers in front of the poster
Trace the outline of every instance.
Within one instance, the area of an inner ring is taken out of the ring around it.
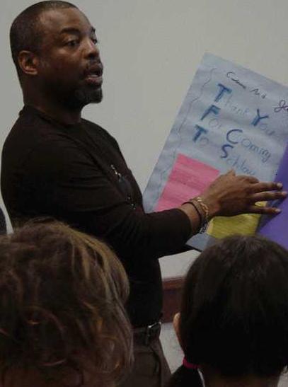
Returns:
[[[236,176],[234,171],[219,176],[200,196],[209,207],[209,217],[238,214],[277,214],[280,209],[261,207],[256,202],[284,199],[281,183],[263,183],[248,175]]]

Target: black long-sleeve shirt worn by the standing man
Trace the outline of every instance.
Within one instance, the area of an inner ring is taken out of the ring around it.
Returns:
[[[2,151],[1,190],[12,224],[53,216],[102,238],[127,271],[134,326],[159,319],[159,261],[190,236],[180,209],[146,214],[139,187],[117,141],[87,120],[55,122],[25,106]]]

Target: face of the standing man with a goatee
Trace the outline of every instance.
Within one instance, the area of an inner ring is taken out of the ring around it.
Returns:
[[[69,108],[102,100],[103,64],[95,29],[77,8],[45,11],[40,16],[42,44],[38,86]]]

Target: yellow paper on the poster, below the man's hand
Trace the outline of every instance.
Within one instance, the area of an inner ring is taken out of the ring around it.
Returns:
[[[257,205],[265,206],[265,202]],[[260,214],[242,214],[236,216],[216,216],[210,221],[207,234],[214,238],[225,238],[231,235],[254,235],[260,220]]]

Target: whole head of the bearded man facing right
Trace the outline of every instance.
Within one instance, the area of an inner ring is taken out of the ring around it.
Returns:
[[[53,113],[102,100],[96,31],[74,4],[29,6],[13,21],[10,43],[25,104]]]

